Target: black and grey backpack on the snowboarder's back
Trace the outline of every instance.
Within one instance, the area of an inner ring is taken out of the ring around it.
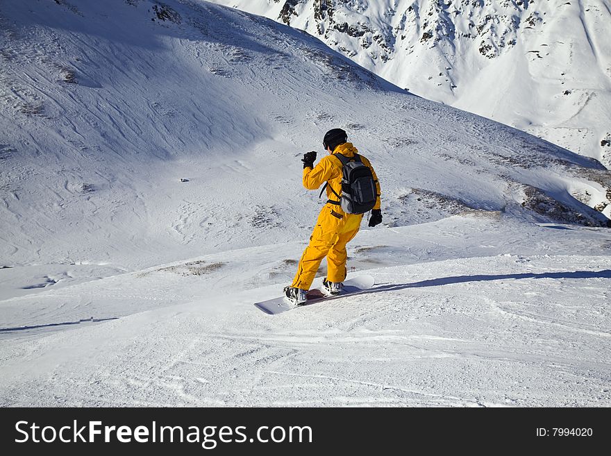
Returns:
[[[346,214],[365,214],[374,208],[378,193],[376,190],[376,181],[374,175],[371,174],[371,169],[360,160],[360,156],[354,154],[354,157],[346,157],[341,153],[334,153],[342,162],[342,194],[338,195],[330,187],[331,192],[340,199],[340,201],[328,200],[328,203],[333,203],[342,206],[342,210]],[[320,194],[328,182],[322,188]]]

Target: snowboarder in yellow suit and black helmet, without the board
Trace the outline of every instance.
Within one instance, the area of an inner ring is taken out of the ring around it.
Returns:
[[[316,226],[310,236],[310,244],[303,251],[297,273],[290,287],[284,292],[288,301],[296,305],[305,303],[305,293],[310,289],[318,267],[324,257],[327,257],[327,276],[323,280],[326,291],[338,294],[342,290],[342,282],[346,278],[346,244],[355,237],[360,228],[363,214],[346,213],[342,209],[342,179],[344,189],[344,162],[360,161],[369,170],[373,178],[373,208],[369,217],[369,226],[382,223],[380,210],[380,184],[371,163],[358,154],[358,150],[350,142],[341,128],[333,128],[324,135],[323,147],[329,153],[314,167],[316,152],[303,154],[303,187],[315,190],[323,183],[326,185],[327,203],[324,205]],[[343,155],[340,157],[338,155]],[[361,167],[362,168],[362,167]],[[367,174],[369,171],[366,171]]]

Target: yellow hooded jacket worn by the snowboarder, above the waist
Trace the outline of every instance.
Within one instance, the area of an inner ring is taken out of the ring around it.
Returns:
[[[344,142],[344,144],[340,144],[335,148],[333,154],[322,158],[314,168],[306,167],[303,169],[303,187],[308,190],[316,190],[325,182],[328,182],[329,185],[326,188],[327,199],[331,201],[337,201],[337,196],[335,196],[331,189],[338,195],[342,194],[342,162],[340,162],[339,158],[333,157],[336,153],[341,153],[346,157],[353,157],[355,153],[358,153],[358,150],[351,142]],[[374,209],[380,209],[380,183],[378,182],[378,176],[376,176],[376,171],[371,167],[369,160],[360,154],[359,156],[362,163],[371,169],[371,174],[374,175],[376,192],[378,193]],[[340,209],[340,206],[337,206],[337,209]]]

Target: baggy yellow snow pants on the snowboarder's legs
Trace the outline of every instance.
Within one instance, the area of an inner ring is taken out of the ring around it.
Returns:
[[[324,205],[291,286],[310,289],[324,257],[327,257],[327,280],[343,282],[348,257],[346,244],[358,233],[362,217],[363,214],[345,214],[337,205]]]

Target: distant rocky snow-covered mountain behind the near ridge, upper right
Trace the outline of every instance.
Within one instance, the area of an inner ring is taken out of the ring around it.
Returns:
[[[213,0],[611,167],[609,0]]]

